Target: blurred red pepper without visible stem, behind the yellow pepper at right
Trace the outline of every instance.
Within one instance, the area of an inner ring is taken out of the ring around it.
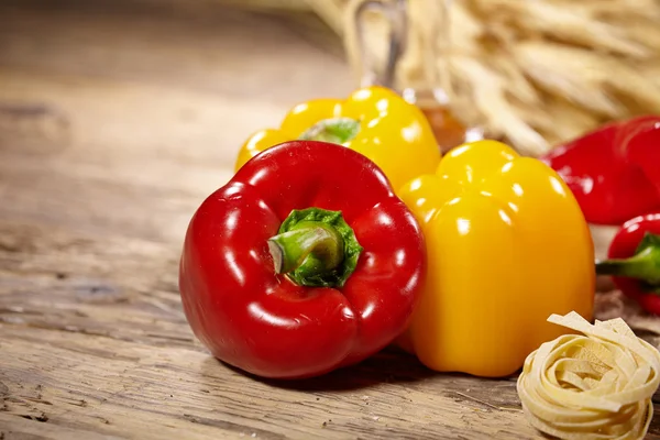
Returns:
[[[541,160],[564,179],[590,223],[619,226],[660,210],[660,116],[608,123]]]

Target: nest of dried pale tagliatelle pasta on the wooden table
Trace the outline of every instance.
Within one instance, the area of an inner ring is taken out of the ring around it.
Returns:
[[[591,324],[579,314],[548,321],[564,334],[530,353],[517,382],[526,418],[559,439],[642,439],[660,385],[660,353],[620,318]]]

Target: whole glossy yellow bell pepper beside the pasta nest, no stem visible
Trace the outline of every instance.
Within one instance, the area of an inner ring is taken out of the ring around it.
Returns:
[[[551,314],[593,314],[593,244],[575,198],[540,161],[495,141],[451,150],[400,191],[428,276],[398,340],[431,370],[499,377],[561,334]]]

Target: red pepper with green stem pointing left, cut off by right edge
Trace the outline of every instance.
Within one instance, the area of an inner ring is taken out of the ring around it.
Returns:
[[[596,273],[613,275],[624,294],[645,310],[660,315],[660,212],[624,223],[607,256],[608,260],[596,263]]]

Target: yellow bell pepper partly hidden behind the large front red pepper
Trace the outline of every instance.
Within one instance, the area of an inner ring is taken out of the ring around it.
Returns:
[[[366,87],[344,100],[315,99],[294,107],[279,129],[250,136],[234,170],[260,152],[296,139],[333,142],[362,153],[381,167],[394,188],[432,173],[441,155],[419,108],[389,89]]]

